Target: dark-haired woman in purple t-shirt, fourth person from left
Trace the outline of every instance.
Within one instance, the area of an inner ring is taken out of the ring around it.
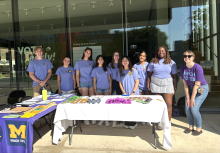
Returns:
[[[111,69],[105,66],[104,58],[102,55],[96,57],[96,66],[92,70],[91,77],[93,77],[93,86],[96,95],[111,95],[112,92],[112,79]],[[102,126],[103,121],[98,123]],[[109,126],[109,122],[105,121],[105,126]]]

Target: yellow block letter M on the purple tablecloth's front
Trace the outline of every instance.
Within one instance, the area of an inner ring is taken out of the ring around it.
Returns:
[[[15,127],[13,124],[9,124],[8,128],[10,129],[10,138],[17,138],[17,135],[19,136],[21,134],[21,138],[25,139],[25,130],[26,130],[26,125],[21,125],[19,129]],[[15,134],[17,133],[17,135]]]

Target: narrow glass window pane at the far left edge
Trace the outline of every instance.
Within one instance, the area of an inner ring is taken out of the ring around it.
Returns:
[[[5,104],[15,79],[11,0],[0,2],[0,104]]]

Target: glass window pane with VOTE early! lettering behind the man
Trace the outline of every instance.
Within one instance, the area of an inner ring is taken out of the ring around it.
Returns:
[[[66,56],[66,39],[64,24],[63,0],[19,0],[19,46],[17,48],[20,57],[20,87],[27,95],[32,96],[32,79],[26,73],[28,64],[36,56],[34,48],[42,46],[43,57],[53,64],[51,87],[57,89],[57,68],[62,64]]]

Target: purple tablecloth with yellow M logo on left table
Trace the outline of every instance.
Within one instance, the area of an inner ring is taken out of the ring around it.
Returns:
[[[67,98],[56,103],[60,104]],[[31,107],[36,106],[38,104]],[[34,121],[52,112],[56,107],[52,106],[32,118],[2,118],[7,114],[0,114],[0,153],[32,153]]]

